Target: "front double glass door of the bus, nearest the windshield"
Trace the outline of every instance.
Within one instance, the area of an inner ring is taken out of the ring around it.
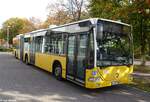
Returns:
[[[81,84],[85,81],[87,34],[68,37],[67,78]]]

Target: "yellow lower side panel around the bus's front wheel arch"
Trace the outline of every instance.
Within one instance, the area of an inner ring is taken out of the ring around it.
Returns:
[[[66,57],[52,54],[35,53],[35,65],[52,72],[54,61],[59,61],[62,66],[62,77],[66,78]]]

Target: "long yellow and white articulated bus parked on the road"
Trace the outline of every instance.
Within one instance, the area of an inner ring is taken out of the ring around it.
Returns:
[[[91,18],[18,36],[18,52],[14,50],[18,58],[59,80],[90,89],[132,81],[133,39],[128,24]]]

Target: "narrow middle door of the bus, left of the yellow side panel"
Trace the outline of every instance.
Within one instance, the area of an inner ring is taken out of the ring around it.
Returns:
[[[32,37],[30,45],[30,63],[35,64],[35,37]]]

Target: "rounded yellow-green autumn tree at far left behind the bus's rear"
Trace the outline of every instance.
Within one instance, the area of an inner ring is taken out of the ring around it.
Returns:
[[[9,28],[8,28],[9,27]],[[2,37],[6,40],[7,29],[9,29],[9,43],[12,44],[12,38],[18,34],[24,34],[35,30],[34,24],[26,18],[10,18],[2,25]]]

